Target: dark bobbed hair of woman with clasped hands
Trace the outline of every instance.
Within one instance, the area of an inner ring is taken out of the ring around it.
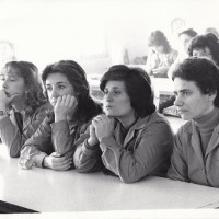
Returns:
[[[112,66],[102,77],[100,88],[104,91],[107,81],[124,81],[131,107],[140,117],[155,111],[153,91],[148,73],[140,68],[124,65]]]

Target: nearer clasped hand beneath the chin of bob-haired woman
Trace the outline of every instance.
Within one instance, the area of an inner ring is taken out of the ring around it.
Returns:
[[[99,141],[105,137],[113,136],[114,118],[107,117],[106,115],[99,115],[93,118],[92,124],[95,128],[95,135]]]

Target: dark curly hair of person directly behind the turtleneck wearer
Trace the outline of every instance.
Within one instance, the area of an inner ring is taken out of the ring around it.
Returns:
[[[214,59],[212,61],[215,61],[216,65],[219,66],[219,42],[218,38],[211,33],[197,35],[192,38],[188,45],[188,55],[193,56],[194,49],[205,49],[206,47],[210,49],[210,54]]]

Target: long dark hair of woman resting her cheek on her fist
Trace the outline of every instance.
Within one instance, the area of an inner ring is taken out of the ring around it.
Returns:
[[[82,67],[73,60],[60,60],[48,65],[42,74],[42,80],[46,82],[48,74],[62,73],[67,77],[77,92],[78,107],[73,115],[81,123],[89,122],[93,116],[102,112],[101,105],[95,103],[90,96],[90,88],[87,81],[85,72]],[[47,93],[46,93],[47,95]]]

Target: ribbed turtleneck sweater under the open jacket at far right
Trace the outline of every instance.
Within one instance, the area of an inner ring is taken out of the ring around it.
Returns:
[[[219,108],[215,107],[209,114],[194,120],[199,130],[203,154],[205,154],[212,131],[219,124]]]

